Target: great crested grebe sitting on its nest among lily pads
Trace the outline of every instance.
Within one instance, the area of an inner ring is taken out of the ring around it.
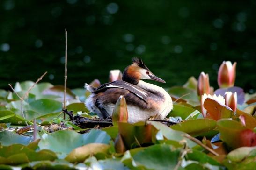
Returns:
[[[91,92],[85,101],[87,108],[105,119],[112,115],[117,100],[123,95],[127,103],[129,123],[145,121],[150,117],[164,119],[172,110],[172,99],[162,87],[141,80],[165,83],[152,74],[141,59],[132,58],[132,64],[125,68],[122,79],[123,81],[105,83],[97,88],[85,83],[85,88]]]

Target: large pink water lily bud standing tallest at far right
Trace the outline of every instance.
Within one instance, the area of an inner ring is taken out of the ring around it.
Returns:
[[[223,61],[219,67],[218,85],[220,88],[233,87],[235,81],[236,62]]]

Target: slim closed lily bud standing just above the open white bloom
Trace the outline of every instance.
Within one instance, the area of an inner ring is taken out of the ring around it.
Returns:
[[[197,83],[197,94],[210,94],[209,75],[201,72]]]

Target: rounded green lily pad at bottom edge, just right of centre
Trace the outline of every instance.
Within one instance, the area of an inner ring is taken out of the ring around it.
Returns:
[[[140,150],[133,156],[134,163],[147,169],[173,170],[178,163],[180,150],[174,150],[170,145],[155,144]]]

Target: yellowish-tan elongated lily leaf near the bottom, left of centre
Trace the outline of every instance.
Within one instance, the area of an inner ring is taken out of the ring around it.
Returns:
[[[73,149],[65,158],[66,161],[71,163],[84,162],[85,159],[91,154],[107,153],[110,145],[103,143],[89,143],[87,145]]]

